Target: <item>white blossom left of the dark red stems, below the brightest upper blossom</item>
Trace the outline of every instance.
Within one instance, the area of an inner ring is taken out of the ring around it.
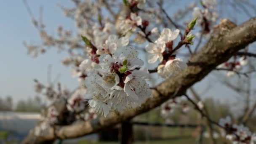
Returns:
[[[149,53],[148,62],[154,63],[157,59],[163,61],[163,52],[165,51],[165,43],[157,41],[156,43],[149,43],[146,45],[146,51]]]

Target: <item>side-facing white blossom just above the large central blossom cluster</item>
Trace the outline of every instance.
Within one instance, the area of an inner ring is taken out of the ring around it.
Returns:
[[[114,54],[117,48],[128,45],[129,39],[127,37],[118,38],[116,35],[110,35],[106,40],[105,44],[101,49],[96,51],[97,54],[101,55],[103,53]]]

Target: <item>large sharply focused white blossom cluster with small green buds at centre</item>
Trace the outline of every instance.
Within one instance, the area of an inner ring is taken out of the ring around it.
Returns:
[[[100,75],[85,78],[85,86],[90,88],[85,94],[89,106],[95,112],[107,116],[109,111],[121,112],[139,107],[151,96],[146,83],[147,70],[139,69],[143,61],[138,59],[133,47],[123,47],[113,53],[105,53],[99,58]]]

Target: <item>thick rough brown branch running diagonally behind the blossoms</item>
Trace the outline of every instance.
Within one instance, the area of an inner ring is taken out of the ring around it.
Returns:
[[[48,134],[41,137],[35,137],[32,130],[27,138],[24,139],[23,144],[38,144],[53,139],[85,136],[130,120],[136,115],[160,106],[171,96],[183,95],[186,93],[187,88],[202,80],[217,65],[227,61],[237,51],[254,41],[256,41],[256,18],[252,18],[237,27],[231,21],[223,19],[218,26],[214,27],[208,43],[198,53],[189,58],[189,66],[157,85],[152,90],[153,98],[147,99],[141,107],[119,114],[111,113],[107,117],[96,120],[79,121],[66,126],[55,126],[55,128],[49,128]]]

